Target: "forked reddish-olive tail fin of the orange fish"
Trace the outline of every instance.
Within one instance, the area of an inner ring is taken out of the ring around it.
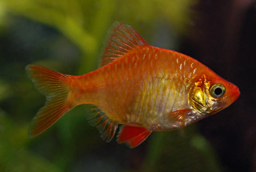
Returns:
[[[67,80],[71,75],[57,73],[38,65],[28,65],[26,70],[38,90],[46,96],[45,106],[37,112],[28,128],[28,136],[34,137],[74,107],[68,100],[70,90]]]

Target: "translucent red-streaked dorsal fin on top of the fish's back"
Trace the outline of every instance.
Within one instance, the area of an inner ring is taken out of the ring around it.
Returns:
[[[147,45],[147,42],[129,25],[114,22],[109,28],[104,49],[102,52],[102,65],[106,65],[132,48]]]

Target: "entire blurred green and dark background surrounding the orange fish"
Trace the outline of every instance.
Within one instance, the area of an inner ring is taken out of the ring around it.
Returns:
[[[76,107],[46,132],[29,139],[28,125],[45,98],[24,70],[28,64],[72,75],[96,69],[107,30],[120,21],[132,25],[149,44],[195,57],[240,87],[239,73],[247,71],[237,66],[243,65],[241,51],[248,50],[234,51],[241,38],[235,35],[247,26],[246,11],[254,5],[249,2],[234,14],[237,4],[232,1],[0,0],[0,172],[256,170],[255,127],[250,128],[249,142],[245,138],[238,142],[239,150],[231,146],[244,134],[233,130],[236,124],[245,126],[234,118],[241,112],[239,105],[246,107],[242,98],[235,102],[237,108],[228,107],[218,117],[200,121],[199,127],[154,132],[134,149],[117,144],[115,137],[104,142],[87,123],[86,106]],[[234,16],[240,18],[232,22]],[[254,29],[248,28],[249,32]],[[250,41],[249,45],[254,44]],[[248,106],[248,112],[254,110],[252,104]],[[250,121],[246,126],[255,124],[255,117]],[[249,144],[247,149],[244,142]],[[244,157],[233,156],[233,151]]]

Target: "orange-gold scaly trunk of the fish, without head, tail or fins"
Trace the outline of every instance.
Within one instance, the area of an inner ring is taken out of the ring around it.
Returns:
[[[181,53],[143,46],[91,73],[71,78],[77,104],[95,104],[111,120],[151,130],[177,128],[168,114],[191,109],[188,92],[204,69]],[[185,64],[185,65],[184,65]],[[73,89],[71,89],[73,90]]]

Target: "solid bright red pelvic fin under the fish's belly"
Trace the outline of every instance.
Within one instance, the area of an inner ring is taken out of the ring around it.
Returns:
[[[126,143],[128,147],[134,148],[146,140],[151,132],[147,128],[122,125],[117,135],[117,142]]]

